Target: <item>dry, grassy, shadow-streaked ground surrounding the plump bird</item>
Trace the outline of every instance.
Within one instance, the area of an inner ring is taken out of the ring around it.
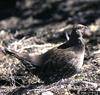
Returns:
[[[24,3],[20,2],[18,8],[22,14],[11,15],[0,20],[0,48],[7,47],[30,55],[43,54],[66,40],[64,36],[66,26],[73,23],[84,24],[91,29],[91,32],[84,34],[86,51],[81,72],[69,79],[44,85],[38,77],[28,73],[19,60],[0,52],[0,95],[77,95],[80,91],[100,91],[98,2],[65,1],[40,2],[37,0],[30,3],[32,1],[29,0],[25,3],[27,1],[23,0]],[[32,12],[32,4],[35,3],[37,6]],[[47,11],[49,11],[48,15]],[[59,12],[62,13],[59,14]],[[68,32],[70,34],[70,31]]]

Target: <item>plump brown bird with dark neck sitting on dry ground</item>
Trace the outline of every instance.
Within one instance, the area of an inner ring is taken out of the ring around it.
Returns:
[[[7,48],[4,48],[3,52],[19,59],[29,72],[37,75],[46,84],[56,82],[81,70],[85,54],[82,34],[87,29],[85,25],[73,25],[68,41],[34,58]]]

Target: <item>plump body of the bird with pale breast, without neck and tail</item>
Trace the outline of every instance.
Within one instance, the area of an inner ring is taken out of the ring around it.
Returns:
[[[68,46],[67,43],[55,47],[42,55],[42,60],[40,61],[42,63],[40,66],[42,74],[40,74],[40,77],[43,80],[54,81],[63,77],[70,77],[81,68],[84,49],[83,52],[80,52],[76,50],[78,47]],[[66,44],[67,46],[65,46]]]

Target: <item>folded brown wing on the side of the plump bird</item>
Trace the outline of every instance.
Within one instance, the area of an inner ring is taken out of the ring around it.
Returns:
[[[56,71],[63,68],[66,64],[73,64],[72,62],[76,59],[76,54],[73,51],[64,52],[61,50],[50,50],[45,53],[42,57],[42,69],[47,71]]]

